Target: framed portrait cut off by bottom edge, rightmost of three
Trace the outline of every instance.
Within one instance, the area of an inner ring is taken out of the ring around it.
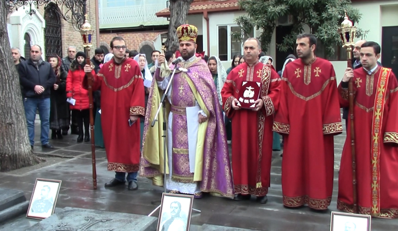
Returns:
[[[332,212],[330,231],[370,231],[370,215]]]

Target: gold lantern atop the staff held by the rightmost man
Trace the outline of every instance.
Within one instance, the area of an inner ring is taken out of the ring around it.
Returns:
[[[356,35],[356,27],[354,27],[353,23],[348,19],[347,11],[344,13],[344,21],[341,23],[338,33],[343,42],[343,47],[347,50],[347,59],[351,60],[352,48],[355,45],[354,39]]]

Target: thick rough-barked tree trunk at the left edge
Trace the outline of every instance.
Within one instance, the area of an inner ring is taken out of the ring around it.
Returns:
[[[7,32],[7,1],[0,1],[0,171],[30,166],[44,159],[30,148],[19,78]]]

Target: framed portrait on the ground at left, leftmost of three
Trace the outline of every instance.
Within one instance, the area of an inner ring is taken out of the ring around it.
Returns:
[[[60,188],[61,181],[37,178],[26,217],[45,219],[51,216],[55,210]]]

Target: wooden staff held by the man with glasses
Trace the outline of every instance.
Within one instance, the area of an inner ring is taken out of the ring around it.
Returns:
[[[90,61],[90,47],[85,47],[86,64],[91,65]],[[86,73],[87,83],[89,88],[89,103],[90,103],[90,134],[91,134],[91,161],[93,164],[93,187],[97,189],[97,169],[95,166],[95,142],[94,142],[94,111],[93,111],[93,75]]]

